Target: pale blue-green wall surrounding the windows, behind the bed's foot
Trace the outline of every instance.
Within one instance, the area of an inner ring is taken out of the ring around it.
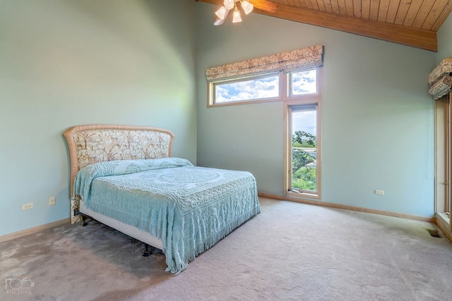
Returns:
[[[283,195],[283,104],[208,109],[204,70],[321,44],[321,202],[434,215],[434,52],[256,13],[215,27],[216,7],[196,8],[198,165],[251,171]]]

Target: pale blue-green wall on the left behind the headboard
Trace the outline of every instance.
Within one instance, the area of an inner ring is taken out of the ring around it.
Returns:
[[[167,128],[196,164],[195,18],[186,0],[0,1],[0,235],[69,218],[73,125]]]

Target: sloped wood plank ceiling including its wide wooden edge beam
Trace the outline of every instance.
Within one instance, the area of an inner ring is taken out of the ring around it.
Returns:
[[[223,0],[196,0],[222,6]],[[437,51],[436,31],[452,11],[452,0],[248,0],[253,13]],[[213,12],[216,8],[213,8]],[[215,15],[212,16],[215,20]],[[246,18],[242,18],[246,22]]]

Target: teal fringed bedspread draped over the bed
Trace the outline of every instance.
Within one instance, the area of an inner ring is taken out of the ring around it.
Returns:
[[[160,238],[173,274],[261,211],[251,173],[193,166],[180,158],[85,166],[74,194],[88,209]]]

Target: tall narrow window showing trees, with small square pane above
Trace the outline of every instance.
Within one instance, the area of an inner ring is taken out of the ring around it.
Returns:
[[[294,197],[320,198],[320,69],[290,74],[285,98],[285,191]]]

